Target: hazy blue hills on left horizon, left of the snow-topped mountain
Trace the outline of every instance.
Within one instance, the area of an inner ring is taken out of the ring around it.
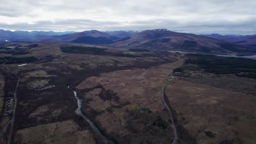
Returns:
[[[109,44],[121,39],[114,35],[96,30],[84,32],[53,32],[53,31],[4,31],[0,29],[0,41],[59,41],[65,43]]]

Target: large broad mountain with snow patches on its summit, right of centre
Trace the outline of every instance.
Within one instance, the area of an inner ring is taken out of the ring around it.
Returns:
[[[111,45],[200,53],[239,53],[241,55],[256,52],[251,47],[231,44],[203,35],[172,32],[167,29],[142,31]]]

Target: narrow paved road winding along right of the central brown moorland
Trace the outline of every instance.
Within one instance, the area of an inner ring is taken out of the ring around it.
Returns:
[[[170,81],[165,82],[165,85],[162,87],[162,103],[165,104],[165,107],[168,110],[168,113],[169,113],[169,116],[170,116],[170,119],[171,119],[171,122],[172,122],[172,128],[173,128],[173,131],[174,131],[174,140],[172,141],[172,144],[175,144],[175,143],[177,143],[177,140],[178,140],[177,129],[176,129],[175,124],[174,124],[172,111],[171,111],[170,107],[167,105],[167,102],[165,101],[165,87],[166,87],[168,82],[170,82]]]

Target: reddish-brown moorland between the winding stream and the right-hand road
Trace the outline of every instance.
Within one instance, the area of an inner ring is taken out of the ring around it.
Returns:
[[[93,120],[118,143],[169,143],[173,134],[162,105],[161,88],[181,62],[89,77],[77,86],[86,101],[83,111],[95,117]],[[110,89],[120,99],[102,100],[98,85]]]

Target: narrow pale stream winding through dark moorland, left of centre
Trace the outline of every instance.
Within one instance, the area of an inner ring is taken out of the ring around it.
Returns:
[[[68,86],[68,88],[69,88],[69,86]],[[81,117],[83,117],[83,118],[86,120],[86,122],[90,125],[91,129],[94,131],[94,133],[95,133],[98,137],[100,137],[100,139],[101,139],[104,143],[106,143],[106,144],[113,144],[112,141],[108,140],[108,138],[107,138],[106,136],[104,136],[104,135],[101,133],[101,131],[100,131],[100,130],[96,127],[96,125],[94,124],[94,122],[92,122],[88,117],[86,117],[86,116],[84,115],[84,113],[81,111],[81,107],[82,107],[82,102],[83,102],[83,100],[81,100],[81,99],[79,99],[79,98],[77,97],[77,92],[75,92],[75,91],[73,91],[73,92],[74,92],[74,97],[75,97],[75,99],[77,99],[77,109],[75,109],[75,113],[76,113],[78,116],[81,116]]]

